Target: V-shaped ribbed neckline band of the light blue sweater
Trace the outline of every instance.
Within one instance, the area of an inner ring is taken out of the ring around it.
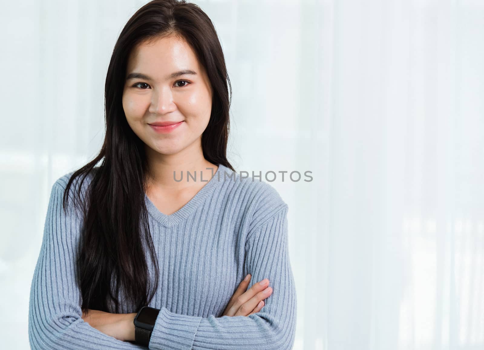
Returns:
[[[162,226],[170,228],[182,220],[188,218],[191,213],[193,213],[200,204],[204,203],[205,200],[209,197],[212,191],[225,179],[224,172],[227,171],[231,172],[229,168],[225,167],[222,164],[218,165],[217,171],[213,174],[212,179],[210,179],[198,192],[197,194],[190,199],[183,207],[177,210],[175,213],[166,215],[158,210],[158,208],[153,204],[151,199],[145,193],[145,204],[148,213]]]

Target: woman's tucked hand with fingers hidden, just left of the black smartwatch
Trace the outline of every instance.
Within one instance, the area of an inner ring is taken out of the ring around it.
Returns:
[[[82,314],[82,319],[92,328],[122,341],[135,340],[136,312],[131,314],[111,314],[100,310],[88,309],[88,314]]]

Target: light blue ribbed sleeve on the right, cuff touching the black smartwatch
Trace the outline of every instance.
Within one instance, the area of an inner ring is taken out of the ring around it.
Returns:
[[[249,287],[268,278],[272,294],[249,316],[180,315],[163,307],[151,334],[150,349],[292,349],[296,331],[296,289],[289,262],[287,205],[250,230],[244,275]]]

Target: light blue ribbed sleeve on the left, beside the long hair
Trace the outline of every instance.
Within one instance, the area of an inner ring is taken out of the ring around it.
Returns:
[[[106,335],[82,319],[75,264],[81,220],[72,207],[64,213],[64,188],[60,180],[52,186],[43,241],[30,287],[30,348],[146,349]]]

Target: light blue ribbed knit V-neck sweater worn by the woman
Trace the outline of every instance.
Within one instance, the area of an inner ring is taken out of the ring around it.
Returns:
[[[146,349],[106,335],[82,319],[76,266],[82,215],[71,204],[67,214],[61,207],[72,174],[51,188],[30,288],[30,347]],[[160,309],[149,349],[292,349],[297,304],[288,253],[288,206],[272,185],[259,179],[243,178],[219,165],[195,197],[170,215],[161,213],[145,194],[160,268],[158,289],[148,304]],[[72,196],[71,190],[70,201]],[[151,259],[147,263],[152,269]],[[221,316],[247,274],[252,274],[248,288],[268,278],[272,294],[257,313]],[[121,303],[121,313],[137,311]],[[114,313],[113,303],[109,312]]]

